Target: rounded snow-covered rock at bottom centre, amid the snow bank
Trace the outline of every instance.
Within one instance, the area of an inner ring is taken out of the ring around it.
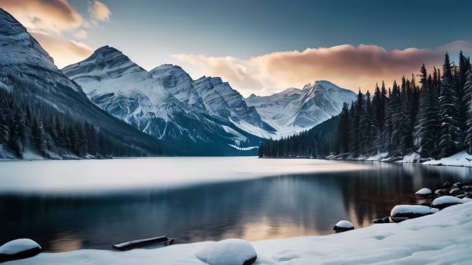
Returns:
[[[250,265],[257,254],[246,240],[230,239],[209,244],[195,253],[195,257],[210,265]]]

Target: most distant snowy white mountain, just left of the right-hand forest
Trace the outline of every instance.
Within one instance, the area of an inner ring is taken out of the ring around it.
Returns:
[[[271,96],[251,94],[246,103],[255,107],[262,120],[277,130],[277,136],[286,136],[339,114],[343,103],[355,98],[351,90],[322,80],[303,89],[288,88]]]

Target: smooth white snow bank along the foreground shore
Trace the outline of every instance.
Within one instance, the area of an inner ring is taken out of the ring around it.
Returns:
[[[472,202],[401,223],[316,237],[253,242],[262,264],[471,264]],[[41,253],[5,265],[204,265],[195,253],[215,244],[200,242],[127,252],[81,250]]]

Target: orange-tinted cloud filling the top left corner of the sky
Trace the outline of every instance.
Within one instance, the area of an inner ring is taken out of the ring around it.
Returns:
[[[28,30],[59,34],[83,25],[81,14],[67,0],[3,0],[10,12]]]

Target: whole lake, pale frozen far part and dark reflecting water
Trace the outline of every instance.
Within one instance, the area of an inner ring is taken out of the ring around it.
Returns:
[[[471,182],[472,169],[258,158],[0,162],[0,244],[45,251],[167,235],[177,243],[333,233],[389,215],[413,193]]]

